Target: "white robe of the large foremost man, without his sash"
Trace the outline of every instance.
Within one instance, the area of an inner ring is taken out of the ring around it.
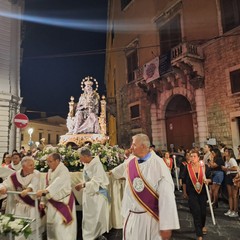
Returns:
[[[139,164],[139,168],[144,179],[159,194],[159,222],[149,213],[141,213],[146,210],[133,196],[127,176],[127,164],[133,158],[131,156],[123,164],[112,170],[113,177],[126,178],[122,202],[122,215],[124,217],[123,239],[160,240],[160,230],[179,229],[180,227],[174,195],[174,183],[163,159],[152,151],[150,158]]]

